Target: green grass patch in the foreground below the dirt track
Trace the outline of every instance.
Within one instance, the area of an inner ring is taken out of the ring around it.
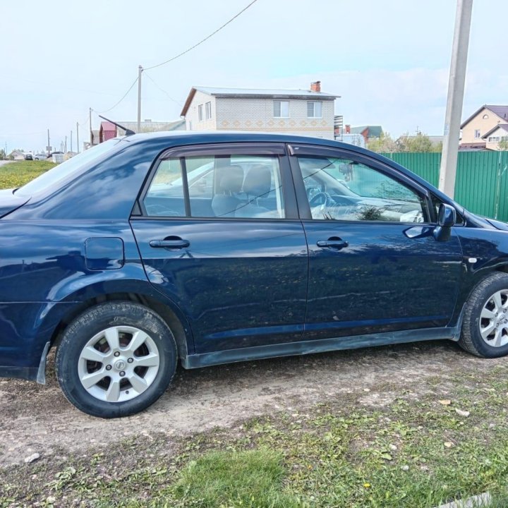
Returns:
[[[430,508],[482,492],[506,507],[507,374],[457,371],[377,409],[341,394],[177,442],[43,458],[0,471],[0,507]]]

